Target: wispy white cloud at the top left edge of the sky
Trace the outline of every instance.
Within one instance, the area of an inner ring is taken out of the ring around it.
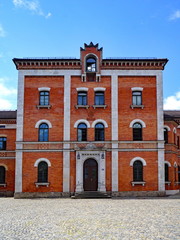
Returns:
[[[45,14],[39,4],[38,0],[12,0],[15,7],[25,8],[30,10],[32,13],[43,16],[45,18],[51,17],[51,13]]]

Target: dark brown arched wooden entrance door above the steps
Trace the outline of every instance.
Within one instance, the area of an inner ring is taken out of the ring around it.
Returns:
[[[98,163],[89,158],[84,162],[83,167],[83,187],[84,191],[97,191],[98,188]]]

